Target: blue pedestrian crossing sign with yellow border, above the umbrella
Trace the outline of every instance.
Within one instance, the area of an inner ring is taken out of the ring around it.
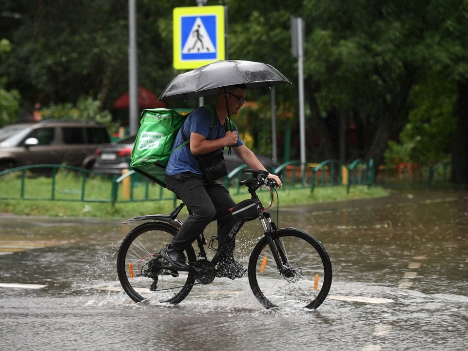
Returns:
[[[174,68],[194,69],[225,59],[225,11],[225,6],[174,9]]]

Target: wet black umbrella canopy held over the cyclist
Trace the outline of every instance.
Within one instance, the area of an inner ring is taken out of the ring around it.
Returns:
[[[291,83],[273,66],[243,60],[220,60],[174,78],[159,99],[191,99],[216,95],[221,87],[246,84],[247,89]]]

